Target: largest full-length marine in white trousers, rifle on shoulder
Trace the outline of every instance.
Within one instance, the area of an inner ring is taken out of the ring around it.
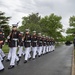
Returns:
[[[20,59],[16,55],[17,47],[20,41],[20,32],[17,30],[17,24],[13,24],[12,26],[12,31],[8,36],[8,46],[10,48],[7,58],[7,60],[10,60],[10,66],[8,67],[8,69],[14,68],[15,61],[17,62],[17,65],[20,61]]]

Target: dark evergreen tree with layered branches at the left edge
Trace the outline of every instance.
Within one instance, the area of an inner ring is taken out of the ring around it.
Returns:
[[[5,13],[0,11],[0,27],[3,29],[5,33],[5,37],[7,37],[8,33],[10,32],[10,27],[8,25],[10,17],[6,17]]]

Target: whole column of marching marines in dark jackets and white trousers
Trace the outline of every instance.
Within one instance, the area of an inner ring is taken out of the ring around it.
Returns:
[[[9,46],[9,53],[6,62],[10,62],[8,69],[12,69],[18,65],[22,55],[24,56],[24,63],[29,59],[35,60],[36,57],[45,55],[55,50],[55,41],[52,37],[41,35],[41,33],[30,34],[30,30],[26,29],[25,33],[17,30],[17,25],[13,24],[12,31],[7,37]],[[6,57],[2,51],[4,45],[4,34],[0,29],[0,71],[4,70],[3,60]],[[18,51],[17,51],[18,50]]]

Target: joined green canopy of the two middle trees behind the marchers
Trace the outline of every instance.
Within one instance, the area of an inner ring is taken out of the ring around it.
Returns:
[[[29,28],[31,33],[36,30],[37,33],[41,32],[50,37],[62,37],[61,19],[61,16],[54,15],[54,13],[45,17],[39,16],[39,13],[32,13],[22,18],[22,26],[19,29],[25,31],[26,28]]]

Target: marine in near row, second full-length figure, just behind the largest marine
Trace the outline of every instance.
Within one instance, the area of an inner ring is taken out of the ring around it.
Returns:
[[[26,34],[24,35],[24,47],[25,47],[25,59],[24,63],[27,63],[28,59],[31,58],[31,35],[29,29],[26,29]]]

